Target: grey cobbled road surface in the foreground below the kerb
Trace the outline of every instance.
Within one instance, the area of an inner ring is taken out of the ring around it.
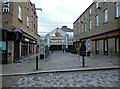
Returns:
[[[120,70],[26,75],[13,87],[118,87]]]

